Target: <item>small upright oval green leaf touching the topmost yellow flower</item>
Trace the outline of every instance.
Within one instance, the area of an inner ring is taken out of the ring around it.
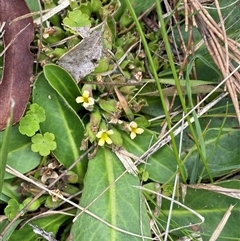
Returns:
[[[55,64],[45,65],[43,72],[53,89],[57,91],[75,111],[78,111],[81,105],[76,103],[76,98],[82,94],[71,75]]]

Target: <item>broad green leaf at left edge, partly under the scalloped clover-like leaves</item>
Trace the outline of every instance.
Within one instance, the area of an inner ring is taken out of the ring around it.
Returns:
[[[0,132],[0,146],[2,146],[3,135],[5,131]],[[33,170],[40,163],[41,157],[31,151],[31,140],[27,136],[20,134],[18,126],[13,126],[11,138],[8,146],[7,164],[21,173]],[[6,173],[5,179],[12,175]]]

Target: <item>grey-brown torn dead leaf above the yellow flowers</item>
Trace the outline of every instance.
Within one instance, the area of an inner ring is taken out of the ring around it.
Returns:
[[[94,71],[102,56],[102,31],[94,30],[58,61],[78,83]]]

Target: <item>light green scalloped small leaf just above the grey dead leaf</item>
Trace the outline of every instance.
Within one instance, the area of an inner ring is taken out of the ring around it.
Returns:
[[[91,25],[89,16],[80,10],[74,10],[63,19],[63,23],[69,27],[85,27]]]

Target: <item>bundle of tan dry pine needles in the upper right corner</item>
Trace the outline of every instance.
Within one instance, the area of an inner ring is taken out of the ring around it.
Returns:
[[[186,3],[185,3],[186,5]],[[207,10],[199,3],[199,1],[188,1],[190,12],[197,12],[194,19],[197,22],[197,27],[202,35],[206,47],[212,56],[213,61],[221,71],[223,77],[228,76],[229,72],[233,71],[233,62],[240,64],[239,43],[226,36],[224,20],[221,15],[221,10],[218,1],[215,1],[218,15],[221,22],[221,28],[215,20],[208,14]],[[189,22],[189,21],[188,21]],[[238,93],[240,93],[239,73],[235,72],[226,81],[226,86],[231,96],[238,122],[240,124],[240,108],[238,103]]]

